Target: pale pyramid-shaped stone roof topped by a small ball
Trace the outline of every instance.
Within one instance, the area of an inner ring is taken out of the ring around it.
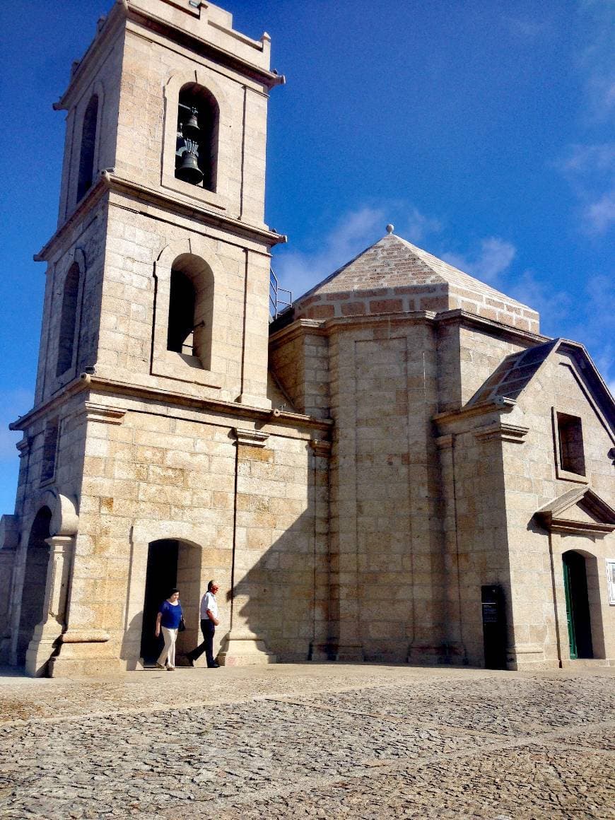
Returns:
[[[294,303],[295,318],[461,308],[538,332],[538,313],[416,245],[389,234]]]

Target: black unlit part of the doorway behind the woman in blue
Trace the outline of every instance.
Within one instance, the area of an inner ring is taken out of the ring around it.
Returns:
[[[148,570],[145,575],[145,600],[141,630],[141,657],[146,666],[156,663],[162,652],[162,636],[154,635],[156,616],[162,601],[177,585],[177,554],[179,542],[153,541],[148,547]]]

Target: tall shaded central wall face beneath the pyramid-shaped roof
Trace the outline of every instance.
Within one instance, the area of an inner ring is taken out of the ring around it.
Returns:
[[[433,658],[440,525],[427,326],[339,326],[330,338],[332,620],[339,657]],[[436,580],[437,579],[437,580]]]

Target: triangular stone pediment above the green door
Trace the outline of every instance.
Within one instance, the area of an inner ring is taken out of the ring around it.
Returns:
[[[534,517],[551,532],[607,535],[615,530],[615,510],[589,487],[568,490]]]

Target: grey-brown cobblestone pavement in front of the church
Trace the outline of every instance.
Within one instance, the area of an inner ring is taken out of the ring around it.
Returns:
[[[0,817],[615,818],[615,669],[0,676]]]

